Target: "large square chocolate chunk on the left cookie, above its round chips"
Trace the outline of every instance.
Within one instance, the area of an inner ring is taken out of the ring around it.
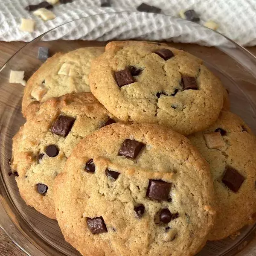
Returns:
[[[70,132],[73,124],[75,122],[75,118],[70,116],[58,116],[55,122],[52,125],[51,132],[53,134],[61,135],[62,137],[66,137]]]

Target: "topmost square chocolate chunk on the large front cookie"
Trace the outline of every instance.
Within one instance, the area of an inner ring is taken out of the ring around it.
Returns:
[[[122,143],[118,155],[134,159],[140,153],[143,146],[144,144],[139,141],[127,139]]]

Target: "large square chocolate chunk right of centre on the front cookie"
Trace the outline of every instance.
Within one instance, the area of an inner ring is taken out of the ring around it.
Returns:
[[[163,180],[149,180],[146,196],[158,201],[168,201],[172,183]]]

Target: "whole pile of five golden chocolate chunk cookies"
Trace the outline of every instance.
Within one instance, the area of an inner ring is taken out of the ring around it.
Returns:
[[[57,53],[25,88],[20,195],[83,256],[195,255],[256,217],[256,137],[228,108],[203,61],[167,44]]]

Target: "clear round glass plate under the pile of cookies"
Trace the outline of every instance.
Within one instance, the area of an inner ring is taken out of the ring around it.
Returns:
[[[135,28],[131,28],[130,23],[136,24]],[[87,41],[47,41],[55,36],[64,39],[76,37],[78,30],[84,33],[83,39]],[[195,37],[198,31],[200,43],[214,44],[214,47],[173,43],[178,39],[186,42],[186,38]],[[104,36],[101,36],[102,32]],[[137,36],[134,37],[134,34]],[[37,58],[40,46],[49,47],[51,54],[54,54],[79,47],[104,46],[104,41],[113,40],[117,36],[122,40],[166,40],[174,47],[202,58],[228,89],[231,110],[239,114],[256,133],[256,59],[246,49],[217,32],[166,15],[125,12],[85,17],[47,32],[20,49],[0,70],[0,227],[29,256],[80,254],[64,240],[57,221],[26,206],[20,198],[15,177],[8,175],[12,137],[25,122],[20,112],[23,87],[20,84],[9,84],[9,72],[11,69],[25,70],[28,79],[42,64]],[[95,41],[97,39],[102,42]],[[236,239],[208,242],[198,255],[233,256],[243,250],[255,232],[256,225],[244,227]],[[247,255],[255,255],[251,253]]]

